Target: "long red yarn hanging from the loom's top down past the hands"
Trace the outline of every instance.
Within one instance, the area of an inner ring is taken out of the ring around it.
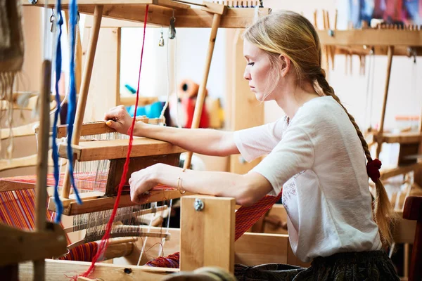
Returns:
[[[122,195],[122,189],[124,184],[126,183],[126,175],[127,171],[129,171],[129,161],[130,161],[130,152],[132,151],[132,143],[134,140],[134,126],[136,121],[136,110],[138,107],[138,101],[139,101],[139,81],[141,80],[141,68],[142,68],[142,58],[143,58],[143,46],[145,45],[145,33],[146,33],[146,20],[148,18],[148,6],[146,5],[145,8],[145,19],[143,20],[143,41],[142,41],[142,50],[141,50],[141,63],[139,64],[139,77],[138,77],[138,89],[136,91],[136,103],[135,103],[135,111],[134,111],[134,118],[132,119],[132,126],[129,129],[129,147],[127,148],[127,155],[126,155],[126,162],[124,162],[124,168],[123,168],[123,174],[122,178],[120,178],[120,184],[119,184],[119,190],[117,190],[117,197],[115,201],[115,205],[113,208],[113,212],[111,213],[110,220],[107,223],[106,226],[106,233],[103,236],[103,239],[101,240],[101,243],[98,246],[97,254],[94,256],[94,259],[92,259],[91,266],[89,266],[88,270],[84,272],[82,277],[88,277],[89,274],[94,271],[95,263],[96,261],[103,256],[104,251],[106,251],[108,246],[108,239],[110,238],[110,231],[113,226],[113,221],[117,213],[117,207],[119,207],[120,202],[120,195]],[[77,280],[77,277],[74,277],[75,280]]]

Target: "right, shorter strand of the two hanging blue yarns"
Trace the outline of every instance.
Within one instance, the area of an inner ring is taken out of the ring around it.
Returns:
[[[76,0],[70,0],[69,4],[69,22],[70,22],[70,68],[69,68],[69,103],[68,103],[68,161],[70,183],[75,191],[76,201],[82,204],[79,192],[76,188],[75,177],[73,176],[73,150],[72,150],[72,133],[73,123],[75,123],[76,113],[76,84],[75,84],[75,41],[76,41],[76,25],[77,25],[77,3]]]

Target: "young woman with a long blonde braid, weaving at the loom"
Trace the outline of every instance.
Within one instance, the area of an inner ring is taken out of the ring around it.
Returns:
[[[392,242],[394,215],[379,180],[381,162],[371,158],[354,118],[326,81],[314,27],[298,13],[273,11],[243,38],[250,90],[257,100],[275,100],[286,117],[235,132],[140,122],[134,131],[204,155],[267,157],[244,175],[156,164],[132,174],[132,200],[157,183],[234,197],[241,205],[283,192],[291,247],[312,266],[238,267],[239,280],[399,280],[383,251]],[[105,119],[121,133],[132,124],[124,107]],[[376,183],[374,202],[368,176]]]

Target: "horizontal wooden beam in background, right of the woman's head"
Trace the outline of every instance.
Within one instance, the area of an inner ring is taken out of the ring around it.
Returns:
[[[316,30],[324,45],[422,46],[421,30]]]

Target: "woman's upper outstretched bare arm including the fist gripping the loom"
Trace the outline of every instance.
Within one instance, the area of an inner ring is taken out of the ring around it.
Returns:
[[[132,126],[132,117],[124,106],[112,108],[104,117],[106,124],[119,133],[128,134]],[[226,156],[238,154],[233,132],[213,129],[179,129],[167,126],[148,125],[136,122],[134,136],[155,138],[167,141],[185,150],[203,155]]]

